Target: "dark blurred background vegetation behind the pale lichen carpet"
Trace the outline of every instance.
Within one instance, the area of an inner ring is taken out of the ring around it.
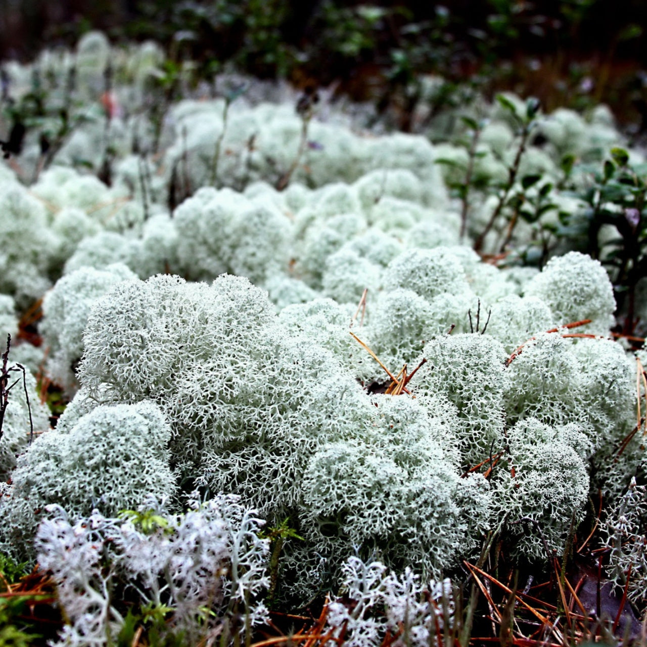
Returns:
[[[644,0],[50,0],[0,1],[0,58],[28,60],[43,46],[74,45],[93,28],[113,41],[155,39],[169,60],[197,61],[211,78],[228,65],[378,108],[409,106],[421,78],[486,95],[537,96],[547,111],[606,102],[634,134],[647,130]]]

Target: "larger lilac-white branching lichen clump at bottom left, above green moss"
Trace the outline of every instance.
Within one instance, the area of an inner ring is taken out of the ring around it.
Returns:
[[[166,637],[194,643],[242,632],[234,609],[247,613],[248,628],[263,622],[267,609],[255,598],[269,586],[269,545],[258,536],[261,525],[253,510],[222,495],[191,501],[184,514],[151,497],[118,518],[93,510],[76,521],[47,506],[36,551],[69,623],[57,644],[116,641],[124,625],[119,596],[134,581],[135,607],[167,617],[157,627]]]

